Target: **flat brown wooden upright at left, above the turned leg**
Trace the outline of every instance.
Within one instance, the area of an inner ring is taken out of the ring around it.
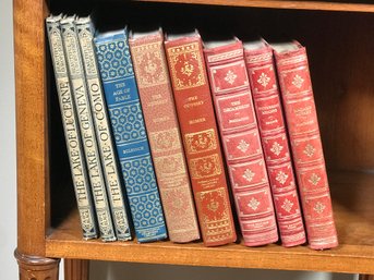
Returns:
[[[17,252],[45,255],[49,220],[44,1],[14,0]]]

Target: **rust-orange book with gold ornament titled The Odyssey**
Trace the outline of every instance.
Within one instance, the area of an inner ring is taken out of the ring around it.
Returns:
[[[237,240],[226,171],[197,32],[165,41],[198,222],[206,246]]]

